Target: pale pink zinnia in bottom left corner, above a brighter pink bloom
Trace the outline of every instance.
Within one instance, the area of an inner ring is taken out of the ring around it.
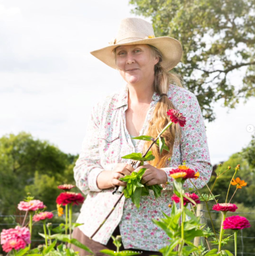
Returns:
[[[5,244],[11,239],[21,238],[25,243],[30,244],[30,231],[26,227],[15,227],[10,229],[3,229],[1,233],[1,244]]]

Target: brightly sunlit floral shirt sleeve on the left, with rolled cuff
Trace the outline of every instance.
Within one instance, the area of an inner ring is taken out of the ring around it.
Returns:
[[[97,115],[98,103],[93,107],[89,118],[87,131],[82,143],[81,153],[73,169],[76,186],[85,195],[91,191],[100,192],[102,189],[97,187],[96,179],[98,174],[104,171],[100,165],[99,152],[99,132],[100,117]]]

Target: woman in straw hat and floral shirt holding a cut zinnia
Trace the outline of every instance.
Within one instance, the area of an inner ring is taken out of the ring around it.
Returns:
[[[110,46],[91,53],[116,68],[127,85],[93,108],[74,169],[77,186],[87,198],[77,220],[84,225],[76,228],[73,236],[91,248],[95,255],[104,255],[98,253],[102,249],[114,250],[111,235],[118,234],[122,238],[121,250],[162,255],[159,250],[169,244],[169,238],[151,219],[163,218],[161,211],[171,214],[168,207],[172,196],[169,171],[186,161],[191,169],[200,172],[200,178],[195,181],[198,188],[205,185],[204,181],[209,181],[212,171],[198,100],[192,92],[183,89],[176,75],[167,72],[180,61],[182,46],[171,37],[155,38],[149,22],[127,18],[121,21],[117,37]],[[131,161],[121,156],[144,153],[150,142],[132,140],[131,137],[157,137],[170,121],[166,114],[169,109],[177,109],[186,117],[184,127],[171,125],[163,133],[170,151],[163,150],[160,155],[154,145],[155,159],[144,162],[143,166],[132,167]],[[119,197],[112,194],[114,187],[126,186],[119,178],[142,167],[147,168],[142,183],[148,186],[160,184],[163,187],[161,196],[158,199],[152,193],[143,196],[139,210],[130,198],[122,197],[93,240],[89,240]],[[192,185],[187,182],[185,187]]]

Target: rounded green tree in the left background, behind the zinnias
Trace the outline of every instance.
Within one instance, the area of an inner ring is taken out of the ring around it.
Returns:
[[[61,193],[57,185],[75,183],[77,157],[25,132],[0,138],[0,213],[18,213],[17,204],[27,192],[54,210]]]

